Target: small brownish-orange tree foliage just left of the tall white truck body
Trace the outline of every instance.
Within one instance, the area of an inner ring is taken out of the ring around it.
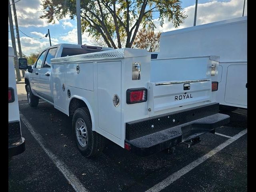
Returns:
[[[154,33],[153,30],[141,29],[134,41],[134,46],[139,49],[146,49],[148,52],[159,51],[159,41],[161,33]]]

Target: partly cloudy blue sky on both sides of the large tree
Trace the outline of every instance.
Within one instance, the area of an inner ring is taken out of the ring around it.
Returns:
[[[194,9],[196,0],[182,0],[182,8],[188,15],[184,23],[178,28],[193,26]],[[70,20],[67,16],[56,24],[48,24],[45,19],[39,19],[42,15],[40,0],[20,0],[16,3],[16,12],[18,17],[19,29],[34,38],[45,36],[47,30],[50,30],[52,44],[58,43],[77,43],[76,20]],[[226,20],[242,16],[244,0],[198,0],[197,25]],[[245,16],[247,15],[247,0],[245,7]],[[175,30],[172,22],[165,20],[161,28],[157,20],[158,14],[154,17],[157,26],[156,31],[166,32]],[[14,20],[14,18],[13,18]],[[14,22],[14,21],[13,21]],[[10,27],[8,26],[8,31]],[[9,32],[9,46],[12,46]],[[20,32],[20,41],[22,53],[29,55],[33,52],[40,52],[42,49],[50,46],[49,38],[35,40],[29,38]],[[87,33],[82,35],[83,44],[96,45],[95,40],[88,36]]]

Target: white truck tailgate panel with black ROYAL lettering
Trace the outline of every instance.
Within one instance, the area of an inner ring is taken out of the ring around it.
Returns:
[[[148,105],[153,112],[211,101],[210,79],[150,82],[148,84]]]

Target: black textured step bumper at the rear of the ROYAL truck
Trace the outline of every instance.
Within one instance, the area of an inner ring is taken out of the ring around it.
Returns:
[[[139,156],[148,156],[164,149],[174,147],[182,142],[198,137],[215,128],[229,123],[230,116],[213,114],[184,124],[179,124],[159,132],[148,134],[133,140],[125,140],[130,151]]]

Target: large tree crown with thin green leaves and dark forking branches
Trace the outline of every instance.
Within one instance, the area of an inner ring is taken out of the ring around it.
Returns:
[[[82,32],[98,40],[103,38],[108,47],[132,47],[140,25],[152,30],[154,14],[160,25],[164,18],[179,26],[187,17],[180,0],[81,0]],[[76,0],[42,0],[43,15],[48,22],[55,22],[66,15],[76,16]]]

